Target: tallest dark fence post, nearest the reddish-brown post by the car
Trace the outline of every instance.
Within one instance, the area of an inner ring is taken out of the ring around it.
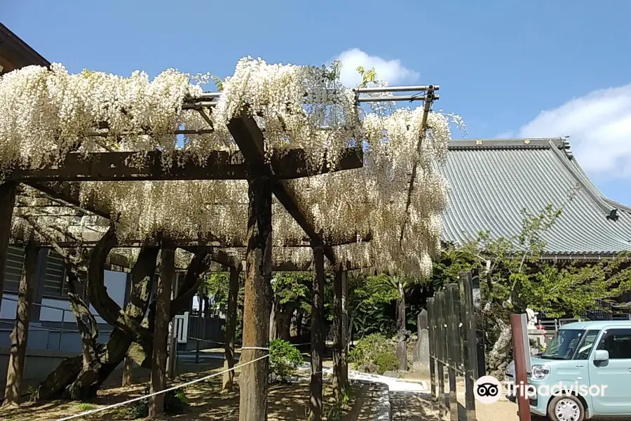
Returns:
[[[460,308],[463,327],[463,360],[465,365],[465,408],[467,421],[475,421],[475,365],[477,363],[477,347],[475,346],[475,316],[473,314],[473,282],[470,272],[459,275]]]

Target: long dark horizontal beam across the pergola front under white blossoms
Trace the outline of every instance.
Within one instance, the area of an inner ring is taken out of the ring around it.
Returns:
[[[60,166],[36,170],[18,168],[7,180],[18,182],[53,181],[147,181],[147,180],[245,180],[260,175],[243,160],[240,152],[212,151],[204,163],[191,159],[183,152],[173,152],[173,166],[163,168],[163,153],[147,152],[140,165],[138,152],[91,152],[67,154]],[[362,156],[355,149],[346,149],[339,165],[332,170],[323,163],[320,168],[307,165],[302,149],[287,149],[273,154],[274,178],[311,177],[331,171],[360,168]]]

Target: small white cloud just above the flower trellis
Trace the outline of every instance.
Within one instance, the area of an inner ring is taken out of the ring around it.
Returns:
[[[419,74],[404,67],[401,64],[401,60],[384,60],[376,55],[368,55],[359,48],[346,50],[344,53],[337,55],[334,60],[341,60],[340,79],[344,86],[348,87],[357,86],[362,81],[361,76],[357,72],[359,66],[367,70],[374,67],[377,78],[388,81],[390,85],[410,83],[419,78]]]

